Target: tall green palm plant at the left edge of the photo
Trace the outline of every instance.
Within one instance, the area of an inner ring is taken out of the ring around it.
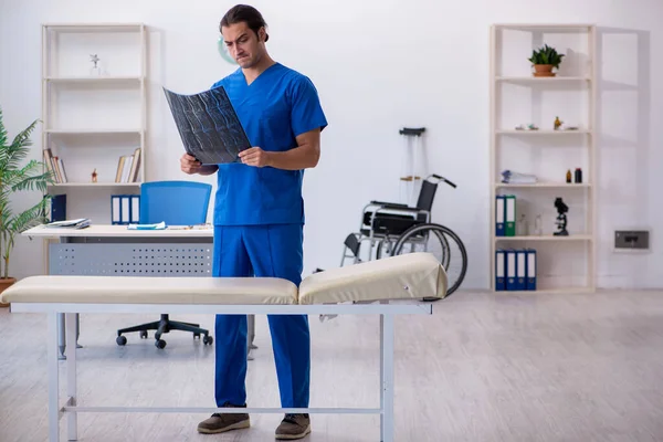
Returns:
[[[32,122],[9,143],[0,108],[0,293],[17,281],[9,271],[14,236],[46,221],[44,213],[51,198],[46,194],[46,187],[53,182],[52,173],[43,162],[29,160],[24,164],[29,147],[32,146],[30,135],[38,123],[39,119]],[[10,198],[14,192],[24,190],[40,190],[42,197],[29,209],[14,213]],[[8,304],[0,303],[0,306],[7,307]]]

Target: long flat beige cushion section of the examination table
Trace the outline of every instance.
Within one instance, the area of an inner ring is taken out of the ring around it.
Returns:
[[[4,303],[297,304],[297,286],[266,277],[29,276]]]

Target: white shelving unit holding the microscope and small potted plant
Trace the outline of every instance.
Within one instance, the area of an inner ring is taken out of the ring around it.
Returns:
[[[565,54],[556,76],[535,77],[528,59],[548,44]],[[494,24],[491,29],[491,287],[497,249],[537,251],[536,293],[594,291],[596,253],[596,29],[592,24]],[[578,126],[555,130],[555,118]],[[517,126],[535,124],[538,130]],[[581,168],[582,181],[566,182]],[[502,182],[508,169],[535,175],[535,183]],[[524,214],[528,232],[497,236],[496,196],[516,197],[516,229]],[[569,207],[568,236],[557,229],[555,199]],[[541,215],[543,234],[534,232]],[[511,293],[511,292],[504,292]],[[524,292],[533,293],[533,292]]]

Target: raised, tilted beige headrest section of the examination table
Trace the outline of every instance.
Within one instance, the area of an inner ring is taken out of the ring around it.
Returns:
[[[431,253],[408,253],[329,269],[299,284],[299,304],[443,298],[446,273]]]

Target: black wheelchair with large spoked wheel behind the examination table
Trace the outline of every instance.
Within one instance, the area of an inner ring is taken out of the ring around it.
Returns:
[[[439,175],[430,175],[421,182],[415,207],[397,202],[370,201],[364,207],[359,230],[344,241],[340,266],[347,259],[352,264],[362,262],[361,244],[368,242],[368,260],[394,256],[401,253],[433,253],[444,267],[449,287],[454,293],[463,283],[467,271],[467,252],[459,235],[445,225],[434,223],[431,210],[438,185],[456,185]],[[433,298],[424,298],[433,301]]]

